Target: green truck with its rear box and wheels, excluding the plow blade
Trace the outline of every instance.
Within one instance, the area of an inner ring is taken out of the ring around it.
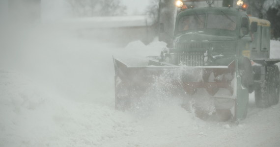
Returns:
[[[270,22],[250,17],[240,8],[186,9],[176,17],[172,49],[162,61],[186,66],[227,66],[237,61],[242,87],[255,92],[258,107],[279,102],[280,80],[270,59]]]

